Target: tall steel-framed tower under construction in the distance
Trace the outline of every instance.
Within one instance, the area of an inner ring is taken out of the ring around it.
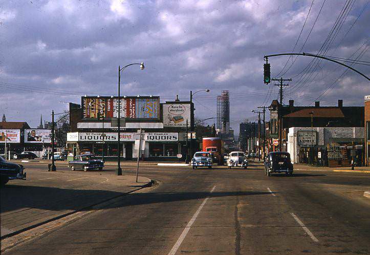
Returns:
[[[217,96],[217,129],[223,133],[229,133],[230,131],[230,99],[228,90],[223,90],[221,96]]]

